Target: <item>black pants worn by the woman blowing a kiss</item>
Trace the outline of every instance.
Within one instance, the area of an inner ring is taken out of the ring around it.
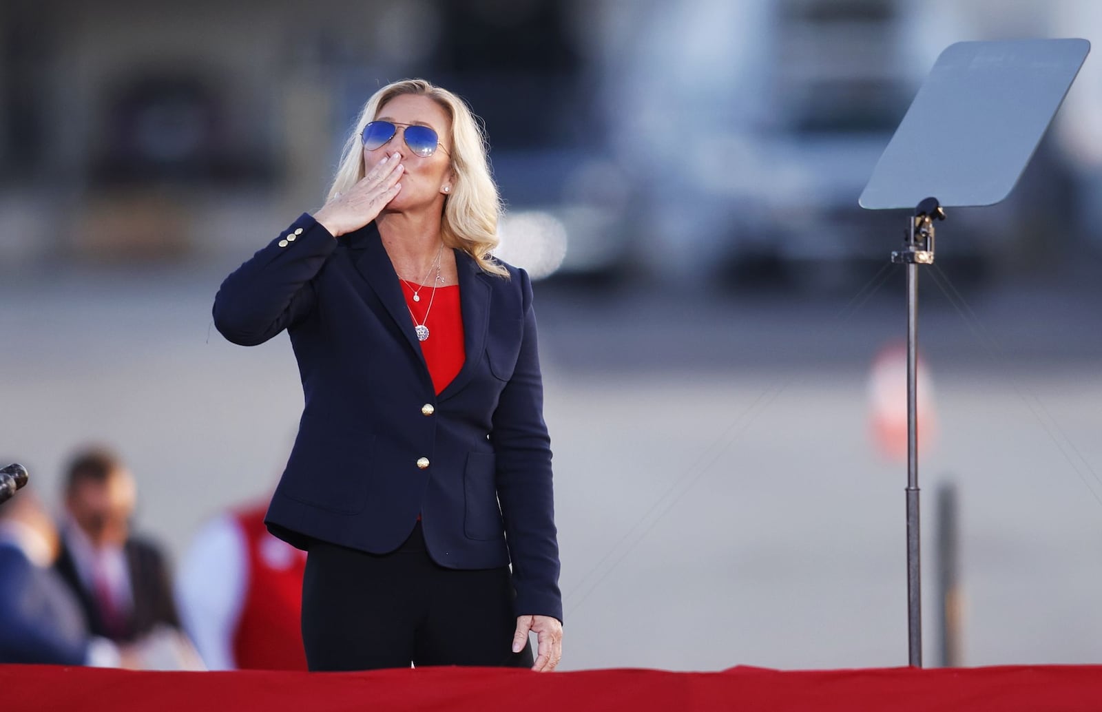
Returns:
[[[508,567],[445,569],[421,522],[398,551],[370,554],[315,541],[302,583],[302,640],[311,670],[429,665],[530,667],[512,652],[517,618]]]

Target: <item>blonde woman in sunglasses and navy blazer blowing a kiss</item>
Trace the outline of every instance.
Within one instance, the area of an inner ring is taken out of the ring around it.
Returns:
[[[390,84],[365,105],[325,205],[215,298],[226,338],[287,328],[299,362],[305,407],[266,522],[309,551],[313,670],[559,662],[532,291],[490,256],[499,212],[466,105]]]

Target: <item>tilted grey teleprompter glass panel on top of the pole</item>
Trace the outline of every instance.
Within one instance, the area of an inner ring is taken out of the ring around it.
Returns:
[[[861,194],[868,209],[1009,194],[1090,52],[1087,40],[958,42],[938,57]]]

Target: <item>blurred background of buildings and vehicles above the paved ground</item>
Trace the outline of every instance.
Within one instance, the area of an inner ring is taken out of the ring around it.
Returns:
[[[1091,0],[9,0],[0,269],[239,256],[318,206],[375,88],[424,76],[484,117],[501,253],[533,272],[847,282],[896,246],[901,217],[856,199],[940,51],[1094,33]],[[1099,104],[1081,78],[947,258],[1102,251]]]

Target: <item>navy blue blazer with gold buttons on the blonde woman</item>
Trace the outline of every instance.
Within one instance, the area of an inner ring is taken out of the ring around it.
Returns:
[[[398,276],[370,224],[334,239],[303,214],[226,278],[218,331],[250,346],[284,328],[304,408],[266,521],[277,537],[372,553],[421,515],[454,569],[512,564],[517,615],[562,619],[551,447],[528,274],[455,250],[466,360],[437,396]]]

